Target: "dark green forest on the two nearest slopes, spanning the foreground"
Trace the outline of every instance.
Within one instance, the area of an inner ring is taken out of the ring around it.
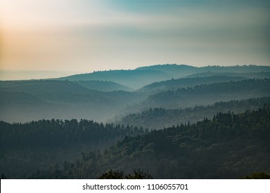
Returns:
[[[75,119],[1,121],[1,170],[30,179],[96,179],[109,170],[143,170],[154,179],[237,179],[270,172],[269,119],[264,103],[162,130]]]

